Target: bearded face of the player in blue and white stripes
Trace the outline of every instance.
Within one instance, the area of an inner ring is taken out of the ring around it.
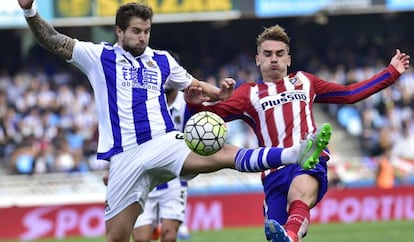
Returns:
[[[117,28],[118,44],[133,56],[140,56],[148,46],[151,21],[132,18],[125,31]]]

